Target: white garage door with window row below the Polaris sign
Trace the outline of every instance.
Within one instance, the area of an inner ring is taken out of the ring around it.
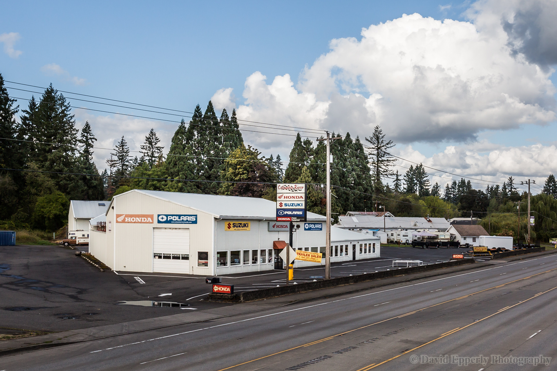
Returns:
[[[189,274],[189,229],[154,228],[153,271]]]

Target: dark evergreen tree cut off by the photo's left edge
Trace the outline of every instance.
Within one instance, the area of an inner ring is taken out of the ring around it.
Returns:
[[[0,169],[13,169],[18,166],[14,162],[14,154],[18,149],[17,142],[13,140],[17,133],[14,115],[19,111],[19,106],[14,107],[15,102],[15,99],[9,97],[0,73]]]

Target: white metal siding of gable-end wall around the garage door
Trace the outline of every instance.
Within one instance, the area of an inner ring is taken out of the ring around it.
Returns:
[[[153,271],[153,228],[188,228],[190,230],[190,273],[211,275],[213,269],[212,236],[213,216],[189,207],[160,200],[140,192],[129,192],[116,196],[113,202],[116,214],[153,214],[153,224],[114,223],[116,233],[116,270]],[[158,224],[157,214],[194,214],[197,224]],[[110,220],[107,215],[107,226]],[[112,216],[114,220],[114,216]],[[109,233],[107,232],[107,235]],[[197,266],[197,252],[208,251],[209,266]]]

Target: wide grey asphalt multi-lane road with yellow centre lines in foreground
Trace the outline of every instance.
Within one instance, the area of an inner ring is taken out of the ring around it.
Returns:
[[[0,358],[0,370],[478,371],[532,369],[520,363],[540,355],[551,360],[538,359],[536,369],[550,370],[557,361],[556,278],[557,256],[540,256],[10,355]]]

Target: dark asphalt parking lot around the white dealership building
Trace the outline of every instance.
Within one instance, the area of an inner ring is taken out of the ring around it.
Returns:
[[[464,250],[382,247],[382,258],[335,263],[331,266],[331,276],[396,269],[392,268],[395,259],[433,264],[447,261],[453,253]],[[204,277],[101,272],[75,256],[75,251],[61,246],[0,248],[2,328],[60,331],[231,305],[202,300],[211,290]],[[324,273],[322,267],[307,267],[295,269],[294,278],[295,282],[319,280]],[[222,280],[233,284],[235,291],[257,290],[285,285],[286,271],[227,275]],[[183,305],[159,308],[152,306],[153,302]]]

